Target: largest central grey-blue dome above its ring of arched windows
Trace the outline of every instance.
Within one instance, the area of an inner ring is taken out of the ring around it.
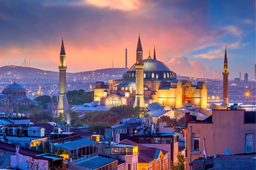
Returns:
[[[154,59],[143,60],[144,71],[171,71],[163,62]],[[135,64],[129,69],[135,71]]]

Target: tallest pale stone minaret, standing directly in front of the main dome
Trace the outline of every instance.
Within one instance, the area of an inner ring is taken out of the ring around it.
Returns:
[[[142,51],[142,46],[140,42],[140,34],[139,34],[139,40],[138,40],[138,45],[137,45],[137,50],[136,50],[136,64],[135,64],[135,69],[136,69],[136,74],[135,74],[135,101],[133,107],[140,106],[140,107],[145,107],[145,102],[144,102],[144,84],[143,84],[143,51]]]

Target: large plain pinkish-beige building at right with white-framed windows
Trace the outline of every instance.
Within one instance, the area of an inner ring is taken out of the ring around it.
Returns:
[[[188,163],[199,157],[225,154],[225,148],[230,154],[255,152],[255,120],[256,112],[245,110],[212,110],[204,120],[186,116],[185,166],[189,169]]]

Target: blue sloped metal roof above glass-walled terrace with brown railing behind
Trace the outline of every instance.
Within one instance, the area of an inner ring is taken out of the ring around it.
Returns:
[[[55,147],[60,147],[60,148],[65,148],[68,150],[80,148],[83,146],[88,146],[92,144],[96,144],[96,141],[93,140],[88,140],[88,139],[77,139],[77,140],[72,140],[64,143],[59,143],[59,144],[54,144]]]

